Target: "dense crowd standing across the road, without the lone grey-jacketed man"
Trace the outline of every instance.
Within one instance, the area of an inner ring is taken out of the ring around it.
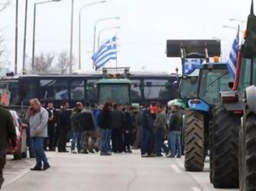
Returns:
[[[41,136],[45,151],[69,152],[67,142],[71,140],[72,154],[100,151],[100,155],[111,155],[132,153],[131,148],[140,148],[142,157],[163,156],[163,152],[171,158],[181,156],[183,112],[179,105],[153,103],[139,107],[106,103],[96,107],[89,102],[78,102],[71,109],[63,101],[57,112],[51,102],[46,107],[41,100],[41,108],[48,112],[48,134]],[[28,116],[31,116],[29,111]],[[37,144],[33,139],[33,145]]]

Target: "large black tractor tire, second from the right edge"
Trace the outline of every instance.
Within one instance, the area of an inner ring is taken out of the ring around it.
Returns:
[[[238,188],[238,134],[241,119],[215,107],[211,131],[211,181],[215,188]]]

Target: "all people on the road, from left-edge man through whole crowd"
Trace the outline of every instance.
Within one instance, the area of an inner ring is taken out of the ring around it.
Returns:
[[[5,150],[9,140],[15,146],[15,126],[11,113],[0,107],[2,128],[0,133],[0,188],[3,182]],[[60,109],[52,102],[30,100],[26,113],[28,123],[29,155],[36,158],[33,171],[50,168],[45,151],[67,151],[72,140],[71,153],[100,155],[132,153],[141,149],[141,157],[163,156],[180,158],[183,110],[179,104],[169,107],[161,104],[143,104],[140,108],[130,104],[106,103],[98,107],[89,102],[76,103],[70,109],[63,101]],[[71,132],[71,133],[70,133]],[[166,142],[167,141],[167,142]]]

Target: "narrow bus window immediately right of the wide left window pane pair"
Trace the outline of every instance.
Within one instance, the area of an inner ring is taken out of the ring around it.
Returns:
[[[85,99],[85,82],[83,79],[72,80],[71,99],[72,100],[84,100]]]

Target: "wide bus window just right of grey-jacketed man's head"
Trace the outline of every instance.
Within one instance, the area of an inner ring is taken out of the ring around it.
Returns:
[[[67,81],[62,79],[41,79],[40,99],[44,100],[67,100]]]

